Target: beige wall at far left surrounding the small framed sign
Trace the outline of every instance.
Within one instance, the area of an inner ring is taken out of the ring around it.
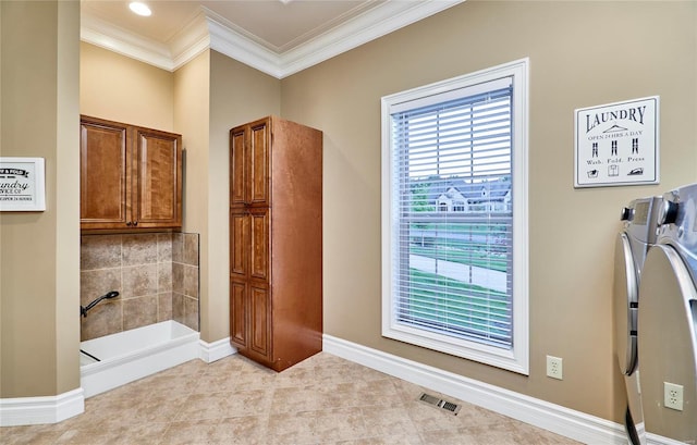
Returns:
[[[0,397],[51,396],[80,386],[80,2],[0,15],[0,152],[45,159],[47,207],[0,213]]]

